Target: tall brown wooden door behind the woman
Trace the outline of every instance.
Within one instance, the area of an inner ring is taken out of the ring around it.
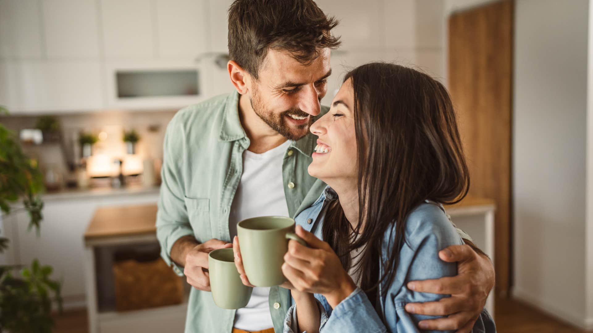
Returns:
[[[470,194],[496,201],[496,290],[511,281],[512,1],[449,17],[449,90],[470,168]]]

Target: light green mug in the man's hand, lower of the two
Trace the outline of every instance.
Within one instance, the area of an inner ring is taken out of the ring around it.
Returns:
[[[240,309],[247,305],[253,287],[241,282],[235,267],[232,248],[215,249],[208,254],[210,289],[214,303],[224,309]]]

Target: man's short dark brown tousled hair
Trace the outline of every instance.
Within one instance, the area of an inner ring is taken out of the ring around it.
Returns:
[[[337,24],[313,0],[235,0],[228,9],[229,56],[256,79],[269,49],[308,64],[319,48],[340,46],[331,35]]]

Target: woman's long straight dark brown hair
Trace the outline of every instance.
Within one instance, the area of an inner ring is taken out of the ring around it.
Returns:
[[[339,199],[323,225],[348,270],[350,251],[366,245],[356,274],[371,302],[380,283],[393,283],[407,216],[424,200],[457,203],[470,178],[447,89],[425,73],[392,63],[368,63],[346,74],[354,89],[358,145],[359,223],[352,228]],[[395,223],[396,239],[384,244]],[[361,231],[362,230],[362,231]],[[381,249],[389,246],[387,258]],[[379,265],[383,273],[380,274]]]

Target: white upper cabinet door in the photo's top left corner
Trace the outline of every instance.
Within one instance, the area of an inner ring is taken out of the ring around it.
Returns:
[[[43,56],[39,0],[0,0],[0,58]]]

